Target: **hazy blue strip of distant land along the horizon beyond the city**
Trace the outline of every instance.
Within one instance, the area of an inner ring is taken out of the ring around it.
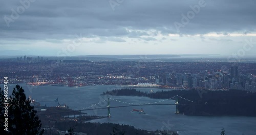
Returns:
[[[80,56],[33,56],[47,60],[89,60],[89,61],[140,61],[140,62],[256,62],[254,57],[230,58],[219,54],[182,54],[182,55],[80,55]],[[0,56],[0,61],[15,61],[24,56]]]

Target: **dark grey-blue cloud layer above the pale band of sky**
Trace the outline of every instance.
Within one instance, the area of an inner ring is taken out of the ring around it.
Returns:
[[[28,8],[24,8],[24,13],[19,14],[17,19],[9,23],[9,27],[4,17],[11,18],[12,9],[16,11],[22,4],[19,1],[1,2],[3,6],[0,10],[1,39],[63,39],[73,38],[79,33],[84,37],[141,38],[140,36],[148,35],[143,30],[157,30],[162,34],[255,32],[256,3],[252,0],[205,0],[206,6],[201,7],[200,12],[195,14],[184,28],[180,28],[179,33],[174,22],[181,23],[181,14],[186,15],[191,11],[189,6],[198,5],[199,0],[124,0],[119,6],[115,6],[114,11],[109,1],[33,1],[35,2],[31,2]],[[104,40],[124,41],[116,38]],[[154,39],[144,38],[144,40]]]

